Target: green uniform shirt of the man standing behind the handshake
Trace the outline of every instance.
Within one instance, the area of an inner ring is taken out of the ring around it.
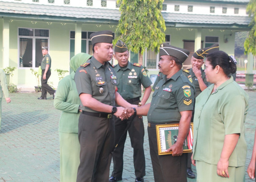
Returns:
[[[124,99],[141,97],[141,84],[145,88],[152,84],[141,64],[128,62],[126,67],[116,64],[114,70],[117,73],[118,92]]]

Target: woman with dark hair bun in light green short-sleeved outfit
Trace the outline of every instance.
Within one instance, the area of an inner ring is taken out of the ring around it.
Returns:
[[[196,98],[192,164],[197,182],[244,181],[249,97],[228,76],[236,72],[235,61],[215,51],[205,62],[207,82],[213,84]]]

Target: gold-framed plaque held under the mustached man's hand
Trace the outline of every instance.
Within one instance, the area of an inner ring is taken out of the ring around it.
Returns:
[[[172,154],[172,151],[165,152],[178,138],[179,124],[161,124],[156,125],[158,155]],[[193,146],[193,123],[190,124],[188,136],[183,143],[183,153],[192,152]]]

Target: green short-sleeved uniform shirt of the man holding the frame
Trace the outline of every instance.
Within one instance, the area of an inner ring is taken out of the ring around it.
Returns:
[[[193,110],[194,92],[193,85],[182,74],[182,70],[169,79],[164,75],[152,95],[148,122],[180,122],[181,111]]]

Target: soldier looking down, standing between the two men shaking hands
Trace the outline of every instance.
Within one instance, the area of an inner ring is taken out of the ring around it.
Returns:
[[[151,80],[148,78],[145,69],[141,64],[131,64],[129,59],[129,51],[125,43],[118,40],[114,47],[114,58],[117,59],[118,64],[114,66],[114,70],[117,73],[118,80],[118,92],[129,103],[143,106],[151,93]],[[141,97],[141,85],[145,87],[145,92],[142,100]],[[129,126],[128,126],[129,125]],[[115,143],[118,143],[116,150],[113,153],[114,169],[110,182],[118,181],[122,179],[123,174],[123,154],[124,144],[127,136],[127,128],[129,137],[131,139],[131,145],[133,147],[133,163],[135,168],[135,181],[144,181],[145,174],[145,156],[144,156],[144,124],[142,118],[136,116],[133,120],[116,119],[115,120]],[[125,132],[125,133],[124,133]],[[120,139],[122,134],[124,137]]]

